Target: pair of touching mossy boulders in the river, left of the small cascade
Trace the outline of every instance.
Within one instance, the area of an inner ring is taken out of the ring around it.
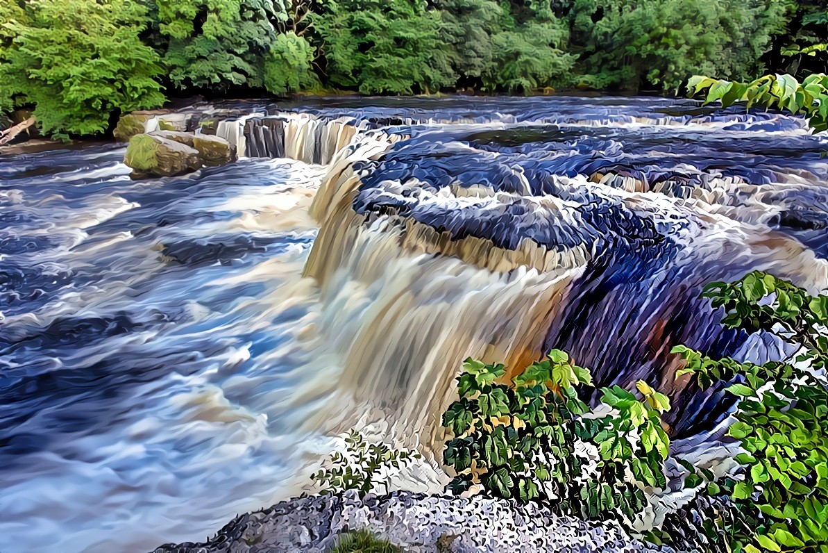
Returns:
[[[123,161],[133,178],[172,177],[236,161],[236,148],[217,136],[155,131],[130,138]]]

